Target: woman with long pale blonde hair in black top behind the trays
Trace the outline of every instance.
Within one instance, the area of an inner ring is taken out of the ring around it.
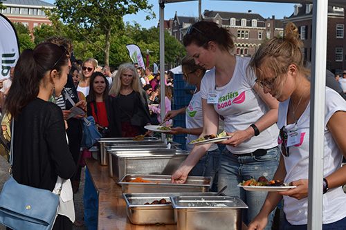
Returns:
[[[116,97],[120,106],[120,119],[116,122],[121,126],[121,136],[136,137],[145,133],[143,127],[150,124],[149,108],[134,65],[125,63],[119,66],[109,94]]]

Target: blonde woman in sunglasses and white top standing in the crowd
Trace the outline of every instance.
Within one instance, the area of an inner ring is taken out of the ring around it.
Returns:
[[[82,64],[82,74],[78,83],[77,91],[83,93],[84,97],[89,95],[90,77],[98,67],[98,61],[93,58],[86,59]]]

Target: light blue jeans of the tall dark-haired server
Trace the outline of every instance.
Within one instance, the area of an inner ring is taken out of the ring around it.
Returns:
[[[237,196],[248,205],[248,209],[243,213],[243,221],[245,224],[249,224],[260,212],[264,200],[266,200],[267,192],[246,191],[237,185],[243,180],[250,180],[251,178],[257,180],[262,175],[266,179],[272,180],[277,166],[279,166],[280,150],[275,147],[268,149],[266,155],[263,156],[236,157],[225,148],[220,162],[218,188],[222,189],[227,185],[228,187],[224,191],[226,195]],[[268,224],[264,229],[271,229],[274,215],[275,209],[269,215]]]

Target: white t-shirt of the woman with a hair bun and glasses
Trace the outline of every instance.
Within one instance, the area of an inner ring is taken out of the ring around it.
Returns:
[[[287,99],[280,103],[279,118],[277,126],[282,128],[287,124],[287,110],[289,108]],[[345,100],[334,90],[327,87],[325,105],[325,153],[324,153],[324,178],[334,173],[340,168],[343,161],[343,153],[336,145],[331,135],[327,123],[336,111],[346,111]],[[299,179],[308,179],[309,177],[309,126],[310,126],[310,102],[304,113],[298,119],[297,124],[289,124],[285,127],[287,132],[298,128],[300,131],[300,144],[289,147],[289,157],[284,157],[286,166],[285,183]],[[278,143],[281,145],[282,140],[279,137]],[[322,189],[322,188],[321,188]],[[307,224],[307,202],[308,198],[297,200],[284,195],[284,213],[291,224]],[[341,186],[335,189],[329,189],[323,195],[323,224],[329,224],[345,218],[346,216],[346,194]]]

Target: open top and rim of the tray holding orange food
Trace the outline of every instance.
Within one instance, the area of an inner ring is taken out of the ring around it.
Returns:
[[[143,180],[149,180],[152,183],[145,182],[129,182],[130,180],[134,180],[136,178],[142,178]],[[118,182],[120,186],[122,184],[127,185],[142,185],[142,186],[211,186],[212,185],[212,177],[201,177],[201,176],[188,176],[185,184],[172,184],[171,183],[171,175],[138,175],[138,174],[126,174],[121,180]]]

